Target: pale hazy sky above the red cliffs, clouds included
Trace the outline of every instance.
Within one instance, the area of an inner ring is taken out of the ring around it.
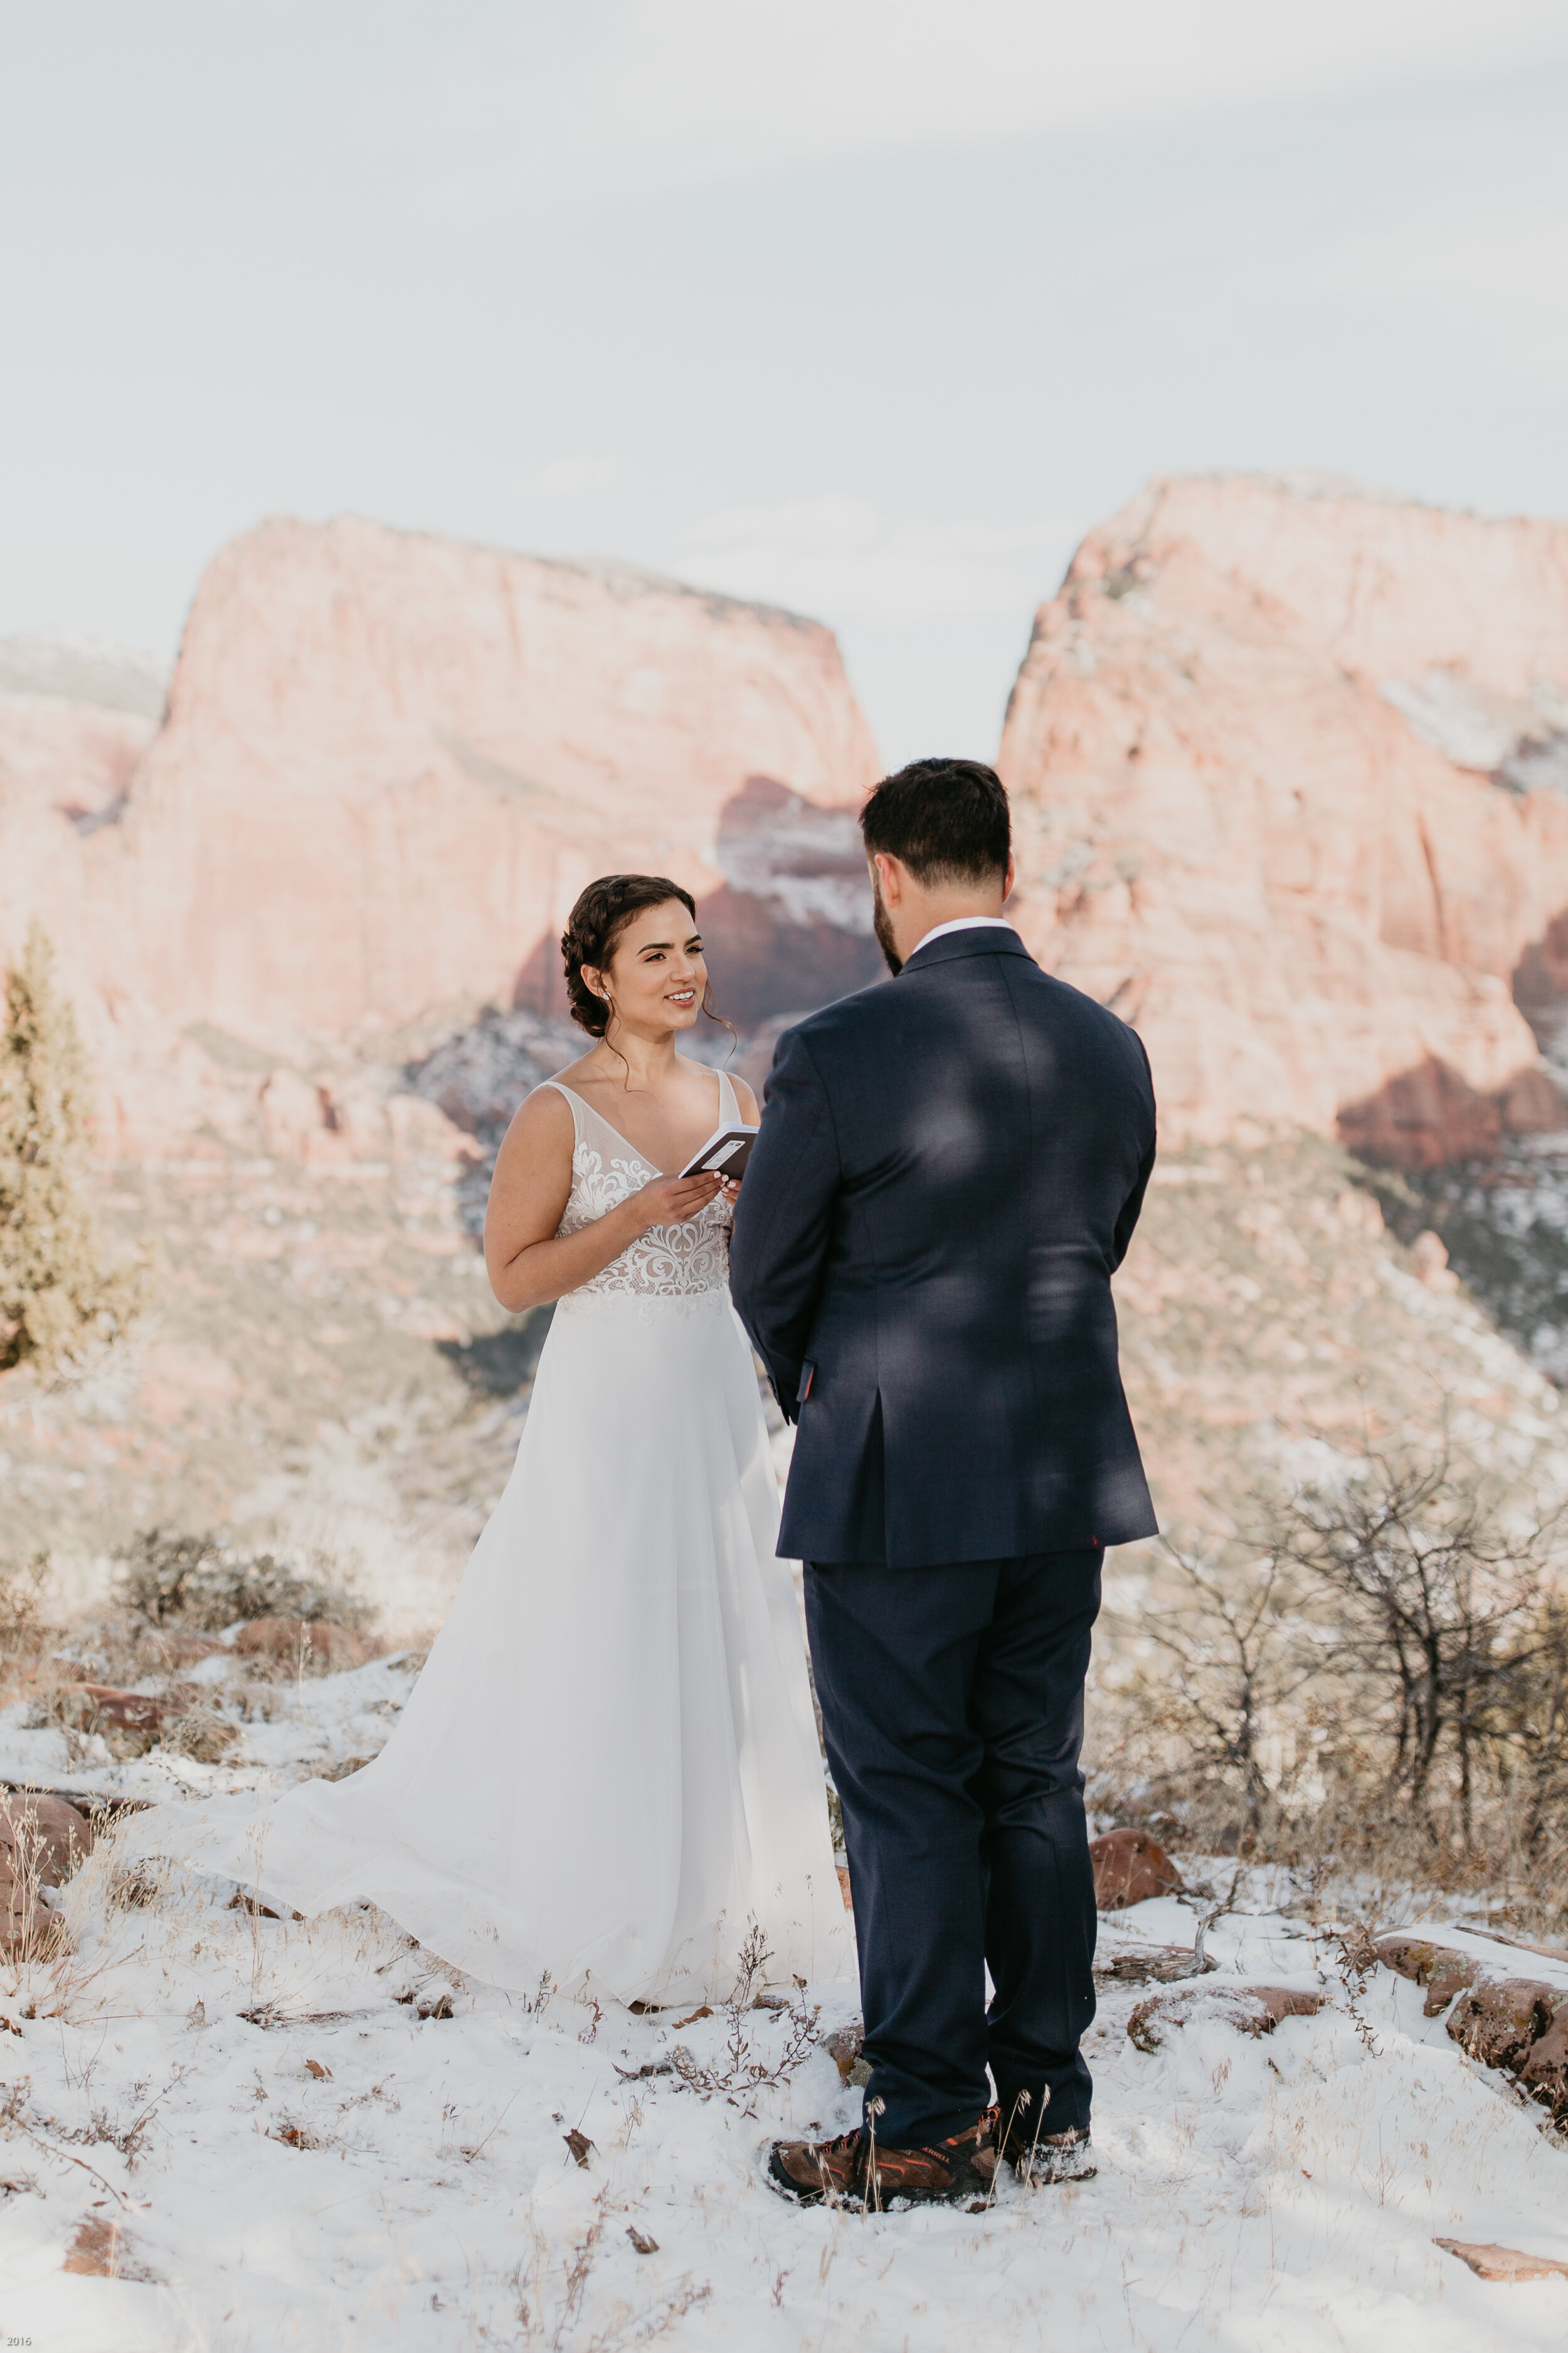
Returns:
[[[1568,513],[1563,0],[0,0],[0,633],[266,513],[820,614],[994,753],[1152,473]]]

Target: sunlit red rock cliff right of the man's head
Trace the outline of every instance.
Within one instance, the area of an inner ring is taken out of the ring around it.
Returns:
[[[1154,482],[1009,704],[1020,927],[1143,1033],[1164,1134],[1434,1162],[1556,1120],[1568,529],[1345,485]]]

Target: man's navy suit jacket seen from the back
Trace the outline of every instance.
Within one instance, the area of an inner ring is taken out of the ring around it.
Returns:
[[[1154,1165],[1138,1035],[1016,932],[947,932],[788,1031],[764,1099],[729,1268],[799,1424],[778,1551],[1154,1534],[1110,1294]]]

